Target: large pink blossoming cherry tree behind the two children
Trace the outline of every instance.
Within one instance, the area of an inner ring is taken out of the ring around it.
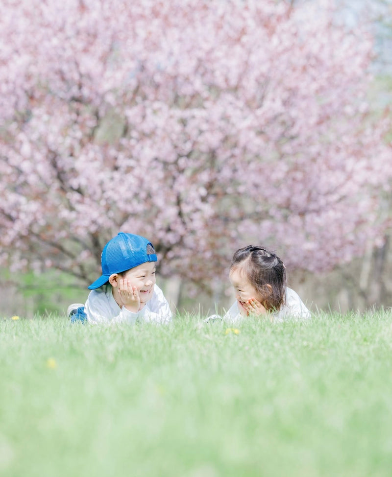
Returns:
[[[329,2],[3,0],[0,246],[88,282],[119,231],[211,286],[267,244],[326,270],[382,237],[372,41]]]

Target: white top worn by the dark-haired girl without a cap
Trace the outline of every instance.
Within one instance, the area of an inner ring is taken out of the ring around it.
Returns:
[[[298,294],[291,288],[286,287],[286,303],[279,310],[271,313],[273,321],[286,321],[288,319],[307,320],[311,317],[310,311],[305,307]],[[223,316],[224,321],[237,322],[244,319],[240,313],[237,301]]]

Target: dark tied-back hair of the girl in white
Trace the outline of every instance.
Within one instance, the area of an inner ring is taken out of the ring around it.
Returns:
[[[266,248],[248,245],[234,253],[230,271],[240,267],[263,297],[262,305],[267,310],[279,310],[286,296],[286,267],[280,258]]]

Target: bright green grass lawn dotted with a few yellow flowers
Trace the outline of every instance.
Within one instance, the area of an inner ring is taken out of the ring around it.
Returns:
[[[0,320],[0,475],[391,475],[389,311],[226,329]]]

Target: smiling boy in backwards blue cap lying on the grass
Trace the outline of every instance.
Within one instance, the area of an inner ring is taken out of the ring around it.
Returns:
[[[154,247],[147,238],[120,232],[104,246],[102,275],[84,306],[89,323],[169,323],[172,312],[162,290],[155,285]],[[73,309],[71,309],[73,308]],[[71,315],[77,305],[71,305]],[[75,316],[80,315],[80,308]],[[73,316],[71,316],[71,320]]]

